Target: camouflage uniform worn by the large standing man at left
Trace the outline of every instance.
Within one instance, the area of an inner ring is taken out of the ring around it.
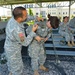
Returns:
[[[24,34],[25,40],[22,42],[19,33]],[[23,62],[21,56],[22,45],[28,46],[35,36],[34,32],[25,37],[24,26],[11,18],[6,27],[5,53],[8,60],[8,69],[12,75],[22,75]]]

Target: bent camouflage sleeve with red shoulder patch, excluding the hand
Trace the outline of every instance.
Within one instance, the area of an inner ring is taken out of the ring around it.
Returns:
[[[31,31],[27,37],[25,36],[25,33],[22,31],[14,33],[14,36],[18,43],[22,44],[23,46],[28,46],[35,35],[36,34],[33,31]]]

